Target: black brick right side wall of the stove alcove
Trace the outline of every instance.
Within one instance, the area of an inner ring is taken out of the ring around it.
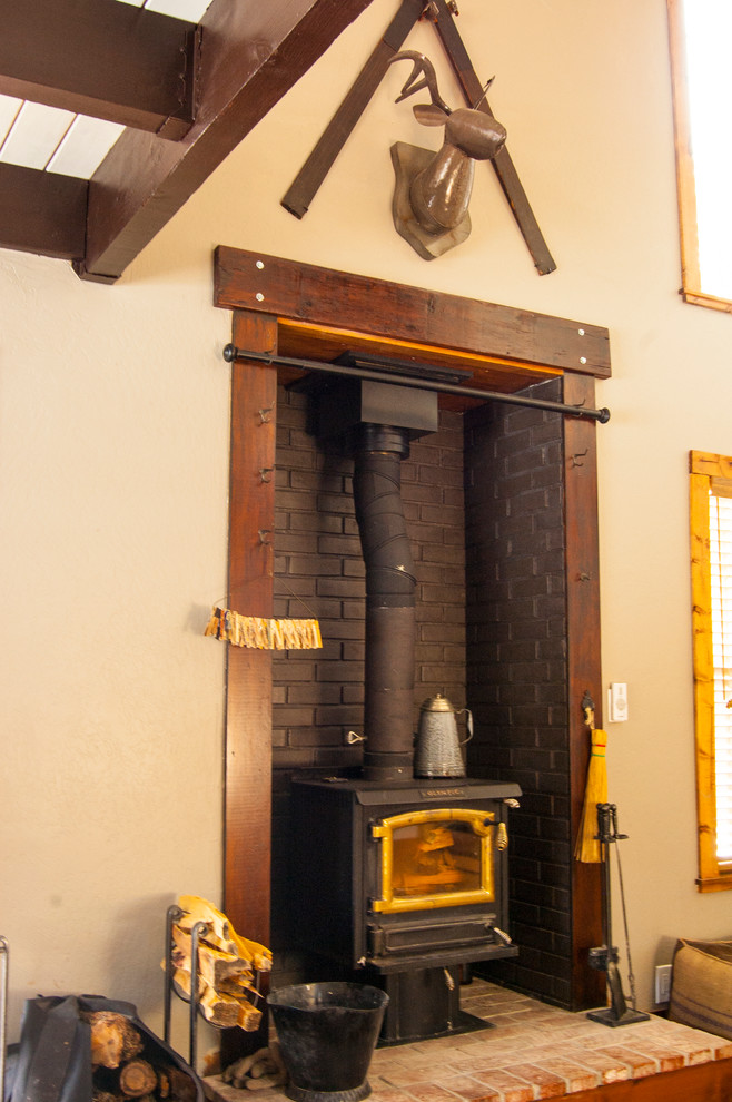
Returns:
[[[558,381],[533,396],[562,400]],[[563,419],[485,405],[465,419],[467,693],[477,776],[524,793],[510,820],[520,955],[481,972],[570,1005],[571,870]]]

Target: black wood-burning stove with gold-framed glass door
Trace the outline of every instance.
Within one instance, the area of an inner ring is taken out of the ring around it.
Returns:
[[[463,1030],[446,970],[517,953],[506,933],[506,846],[520,795],[464,778],[294,781],[295,939],[385,987],[386,1040]],[[445,993],[443,1010],[429,996],[426,1034],[405,983]]]

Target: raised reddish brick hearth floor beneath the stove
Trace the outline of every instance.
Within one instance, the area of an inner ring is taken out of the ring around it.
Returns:
[[[663,1017],[612,1029],[482,980],[462,988],[461,1007],[494,1029],[377,1049],[369,1102],[534,1102],[732,1059],[732,1042]],[[215,1102],[253,1098],[205,1082]]]

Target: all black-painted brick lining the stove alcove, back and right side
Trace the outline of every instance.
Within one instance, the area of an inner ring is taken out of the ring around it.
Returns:
[[[561,400],[558,381],[528,393]],[[353,461],[307,432],[307,397],[280,391],[277,616],[316,616],[322,651],[274,655],[273,933],[278,983],[311,978],[288,953],[289,780],[356,768],[345,735],[363,729],[364,565]],[[481,971],[570,1005],[570,765],[563,515],[563,422],[489,404],[443,411],[412,444],[402,488],[417,571],[415,727],[444,692],[474,711],[474,776],[515,780],[511,933],[515,961]]]

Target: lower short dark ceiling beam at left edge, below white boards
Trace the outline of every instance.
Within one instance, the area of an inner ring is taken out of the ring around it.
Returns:
[[[0,248],[72,260],[83,255],[86,180],[0,164]]]

